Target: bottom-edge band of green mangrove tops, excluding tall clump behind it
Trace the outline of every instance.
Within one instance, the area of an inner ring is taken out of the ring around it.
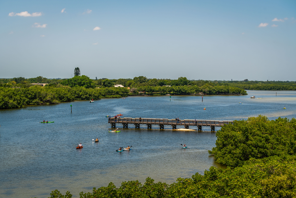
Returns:
[[[147,178],[123,182],[117,188],[112,182],[107,187],[80,193],[80,198],[196,198],[196,197],[296,197],[296,157],[271,156],[250,159],[233,169],[211,167],[204,175],[178,178],[176,183],[154,183]],[[52,191],[51,198],[61,197]],[[69,197],[69,192],[65,197]]]

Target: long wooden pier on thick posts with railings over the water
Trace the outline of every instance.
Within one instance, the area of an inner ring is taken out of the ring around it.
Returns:
[[[116,127],[116,124],[122,124],[123,128],[128,128],[128,124],[135,125],[136,128],[140,128],[140,124],[147,125],[147,129],[151,129],[152,124],[158,125],[160,129],[163,129],[164,125],[170,125],[173,129],[176,126],[184,126],[185,129],[189,129],[189,126],[197,126],[199,131],[202,130],[202,126],[210,126],[211,131],[215,131],[215,126],[221,127],[226,124],[232,124],[233,121],[219,121],[219,120],[179,120],[176,119],[158,119],[158,118],[108,118],[108,123],[111,124],[111,128]]]

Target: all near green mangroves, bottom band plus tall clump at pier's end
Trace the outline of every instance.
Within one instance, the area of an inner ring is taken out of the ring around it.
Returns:
[[[207,198],[207,197],[296,197],[296,120],[265,116],[234,121],[216,133],[216,147],[210,151],[227,169],[210,167],[204,175],[178,178],[176,183],[154,183],[147,178],[144,185],[136,181],[122,182],[116,187],[94,188],[80,193],[81,198]],[[51,198],[70,198],[52,191]]]

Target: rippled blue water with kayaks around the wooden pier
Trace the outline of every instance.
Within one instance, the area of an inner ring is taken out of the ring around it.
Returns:
[[[173,183],[178,177],[203,174],[211,166],[222,167],[207,152],[216,141],[209,127],[203,127],[202,132],[182,132],[172,131],[170,126],[159,130],[157,126],[134,129],[129,125],[128,129],[120,128],[120,133],[108,133],[110,124],[105,115],[239,120],[261,114],[269,119],[296,118],[296,91],[248,94],[204,96],[203,102],[201,96],[172,96],[171,101],[169,96],[132,96],[0,110],[0,197],[49,197],[55,189],[63,194],[69,190],[73,197],[79,197],[79,192],[107,186],[111,181],[118,187],[128,180],[144,183],[147,177]],[[256,99],[250,99],[252,95]],[[54,123],[39,123],[44,119]],[[99,142],[91,141],[96,137]],[[83,148],[76,150],[80,142]],[[189,147],[186,150],[180,145],[184,143]],[[133,146],[131,151],[115,151],[128,145]]]

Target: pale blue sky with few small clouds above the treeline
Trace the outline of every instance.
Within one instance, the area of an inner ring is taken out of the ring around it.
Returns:
[[[0,78],[289,80],[296,1],[0,1]]]

